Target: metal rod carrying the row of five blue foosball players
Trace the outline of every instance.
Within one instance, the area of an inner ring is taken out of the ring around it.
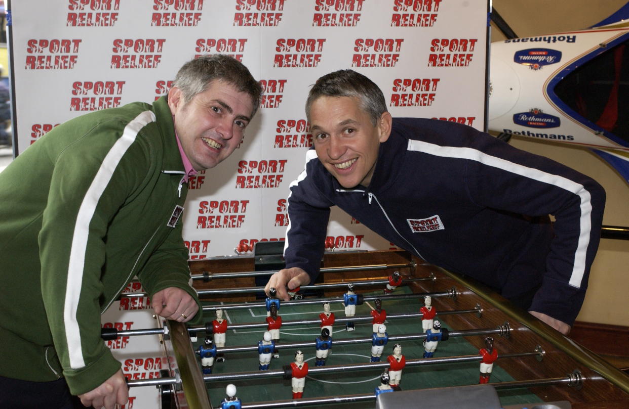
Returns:
[[[448,331],[448,337],[469,337],[472,335],[491,335],[498,334],[508,338],[511,327],[508,322],[504,323],[496,328],[480,328],[480,329],[465,329],[458,331]],[[409,341],[417,339],[426,339],[426,334],[407,334],[407,335],[389,335],[387,342],[390,341]],[[443,340],[445,341],[445,339]],[[372,338],[352,338],[352,339],[338,339],[334,340],[333,344],[338,345],[353,345],[353,344],[367,344],[371,343]],[[291,348],[314,348],[315,342],[282,342],[282,344],[276,344],[276,349],[291,349]],[[235,346],[235,347],[218,347],[216,348],[217,354],[225,354],[226,352],[247,352],[257,351],[258,346]]]

